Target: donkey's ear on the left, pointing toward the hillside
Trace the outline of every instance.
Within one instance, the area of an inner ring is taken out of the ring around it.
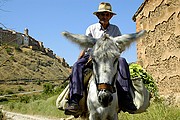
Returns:
[[[62,35],[71,42],[84,48],[92,48],[97,41],[96,39],[86,35],[72,34],[69,32],[62,32]]]

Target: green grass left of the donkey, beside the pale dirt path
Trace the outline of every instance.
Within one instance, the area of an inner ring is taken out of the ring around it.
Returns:
[[[35,100],[29,103],[9,102],[4,104],[4,109],[11,112],[17,112],[29,115],[40,115],[46,117],[66,118],[63,111],[56,108],[55,101],[58,95],[46,100]]]

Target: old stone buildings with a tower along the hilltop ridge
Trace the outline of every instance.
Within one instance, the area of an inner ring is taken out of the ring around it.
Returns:
[[[16,32],[14,30],[7,30],[0,27],[0,45],[8,44],[8,45],[16,45],[18,47],[26,47],[32,50],[38,50],[44,52],[47,56],[51,58],[56,58],[56,55],[49,48],[45,48],[43,42],[35,40],[31,36],[29,36],[29,30],[27,28],[24,29],[24,33]],[[58,57],[60,63],[69,68],[69,65],[65,62],[64,58]]]

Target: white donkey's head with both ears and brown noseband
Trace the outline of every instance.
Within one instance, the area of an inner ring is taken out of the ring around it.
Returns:
[[[93,62],[94,79],[98,90],[98,100],[104,106],[112,101],[115,92],[117,78],[118,58],[136,38],[142,36],[145,31],[126,34],[118,37],[110,37],[107,34],[100,39],[63,32],[63,36],[80,47],[92,48],[91,58]]]

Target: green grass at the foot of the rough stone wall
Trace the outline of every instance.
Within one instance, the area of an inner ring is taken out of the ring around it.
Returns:
[[[180,108],[166,106],[162,102],[151,102],[147,112],[141,114],[121,112],[119,120],[180,120]]]

